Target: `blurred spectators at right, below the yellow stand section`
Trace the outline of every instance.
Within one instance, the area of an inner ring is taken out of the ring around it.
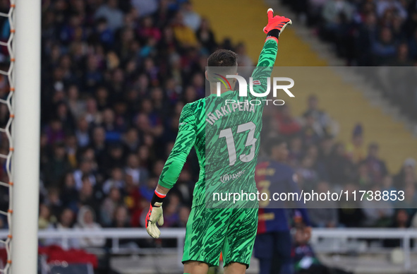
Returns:
[[[302,117],[292,116],[289,105],[270,108],[272,111],[267,107],[262,128],[264,138],[281,136],[287,140],[287,163],[294,168],[303,191],[349,191],[349,201],[310,203],[308,212],[313,226],[417,227],[416,160],[409,157],[399,172],[390,173],[379,155],[379,145],[364,143],[366,130],[361,124],[353,127],[348,143],[336,141],[335,121],[318,103],[318,97],[310,95]],[[360,201],[356,196],[353,201],[352,191],[380,191],[381,197]],[[383,191],[386,195],[404,191],[404,201],[382,198]]]

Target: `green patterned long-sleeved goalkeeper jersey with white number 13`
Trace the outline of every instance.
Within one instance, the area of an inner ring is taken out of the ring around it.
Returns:
[[[255,93],[265,93],[277,50],[276,40],[265,42],[252,74]],[[174,186],[194,146],[200,174],[193,193],[193,207],[212,201],[212,193],[255,193],[254,173],[264,105],[245,102],[253,99],[262,102],[265,97],[255,97],[249,90],[247,97],[239,97],[238,91],[228,90],[221,96],[212,94],[186,104],[159,185],[168,189]],[[215,206],[215,203],[210,205]]]

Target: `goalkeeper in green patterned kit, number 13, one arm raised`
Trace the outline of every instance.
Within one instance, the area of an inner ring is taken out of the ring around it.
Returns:
[[[256,192],[254,174],[264,105],[241,101],[257,99],[262,102],[262,97],[266,98],[262,94],[267,90],[267,79],[277,57],[279,35],[291,24],[288,18],[274,16],[272,8],[268,9],[267,18],[264,28],[267,38],[252,74],[253,85],[250,85],[255,95],[248,90],[247,97],[239,97],[234,89],[236,78],[226,80],[226,75],[230,78],[237,74],[237,54],[219,49],[209,56],[205,76],[210,82],[211,94],[183,107],[174,148],[159,177],[146,216],[147,232],[158,238],[157,223],[164,223],[164,198],[176,183],[188,153],[194,147],[200,176],[186,225],[184,273],[207,273],[210,266],[218,266],[221,252],[226,274],[245,273],[250,263],[258,226],[258,206],[209,208],[206,191],[207,186],[214,186],[219,192]],[[213,73],[215,68],[221,70],[221,67],[226,75]],[[218,85],[219,81],[225,82],[224,85]]]

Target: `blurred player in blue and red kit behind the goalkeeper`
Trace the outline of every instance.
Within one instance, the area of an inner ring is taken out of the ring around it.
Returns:
[[[267,201],[259,202],[258,234],[255,240],[255,257],[259,259],[262,274],[294,273],[291,259],[291,234],[289,218],[291,208],[284,201],[269,201],[274,193],[299,193],[294,170],[286,165],[289,151],[282,138],[271,138],[267,141],[269,159],[258,163],[255,170],[255,181],[260,193],[267,193]],[[308,239],[311,228],[307,210],[302,204],[295,204],[301,213]]]

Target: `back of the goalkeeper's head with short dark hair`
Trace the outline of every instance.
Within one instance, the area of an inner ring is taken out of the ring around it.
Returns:
[[[236,74],[238,54],[229,49],[217,49],[207,59],[207,78],[210,82],[217,82],[217,75]]]

